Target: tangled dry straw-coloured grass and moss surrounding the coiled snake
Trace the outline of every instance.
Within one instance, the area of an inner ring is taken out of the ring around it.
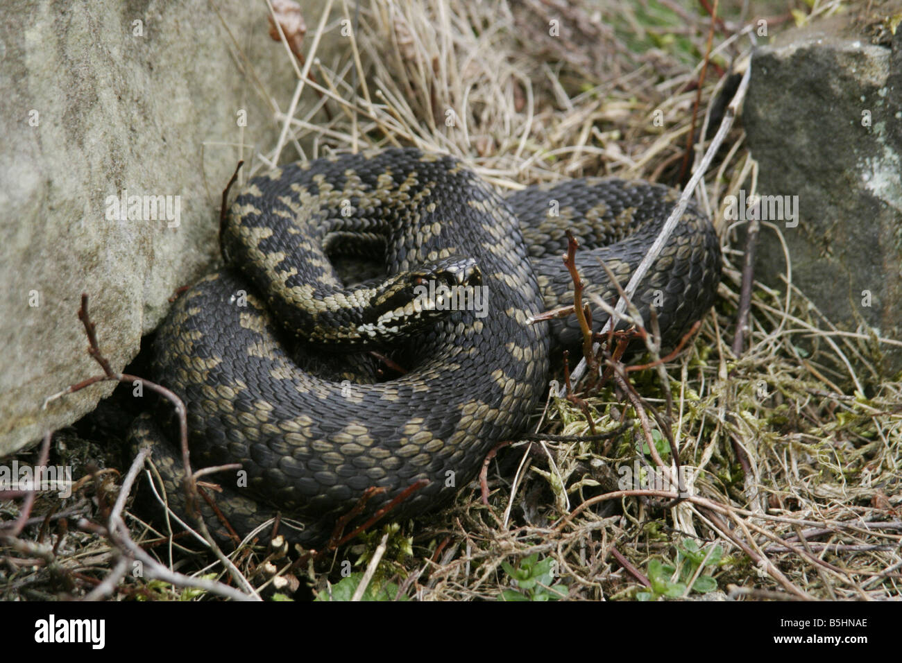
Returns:
[[[244,153],[245,177],[299,157],[414,145],[464,158],[501,189],[596,174],[682,185],[700,170],[723,117],[717,100],[731,99],[729,74],[750,46],[729,14],[709,35],[706,15],[673,2],[372,0],[359,15],[326,5],[335,11],[303,16],[306,35],[282,30],[298,92],[274,114],[272,151]],[[815,4],[805,20],[841,10]],[[318,57],[343,21],[357,26],[350,49]],[[695,189],[722,236],[720,296],[666,369],[619,370],[549,396],[534,433],[487,462],[485,501],[468,488],[436,517],[377,526],[331,562],[299,568],[245,550],[237,570],[253,579],[265,561],[270,576],[308,573],[317,594],[336,598],[364,586],[368,597],[420,600],[897,597],[902,384],[881,352],[902,343],[838,331],[787,267],[787,291],[754,281],[733,347],[746,228],[724,221],[723,200],[753,193],[758,172],[738,124]],[[682,483],[668,480],[675,451]],[[133,536],[152,539],[139,527]],[[105,540],[93,546],[78,555],[108,558]],[[350,590],[345,558],[357,572]],[[85,576],[83,558],[75,564]],[[218,563],[194,573],[207,574],[228,581]],[[158,583],[120,595],[179,592]]]

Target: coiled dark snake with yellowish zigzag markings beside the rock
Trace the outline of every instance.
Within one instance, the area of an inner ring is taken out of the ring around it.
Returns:
[[[193,465],[242,465],[216,475],[217,507],[241,536],[278,512],[280,533],[309,547],[373,486],[385,490],[352,525],[421,479],[392,519],[446,503],[526,426],[552,349],[579,341],[572,316],[529,324],[573,302],[566,229],[587,291],[612,302],[599,259],[625,285],[676,198],[600,178],[502,198],[461,161],[414,149],[251,180],[222,229],[226,268],[180,297],[152,348],[154,378],[186,403]],[[378,255],[382,276],[345,286],[339,253]],[[713,226],[690,205],[633,300],[646,319],[656,303],[672,345],[713,304],[720,272]],[[481,299],[450,306],[454,286]],[[605,319],[594,312],[596,330]],[[170,503],[180,460],[161,438],[174,431],[144,415],[131,435],[132,448],[150,445]]]

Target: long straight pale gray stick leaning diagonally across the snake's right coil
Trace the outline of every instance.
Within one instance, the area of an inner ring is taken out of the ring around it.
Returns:
[[[720,127],[717,129],[717,134],[714,134],[713,140],[711,144],[708,146],[707,152],[704,153],[704,158],[699,163],[698,168],[693,173],[692,177],[689,179],[689,182],[686,184],[686,188],[683,189],[683,193],[680,195],[679,201],[676,203],[676,207],[674,207],[673,211],[670,213],[670,216],[667,217],[667,222],[664,224],[664,227],[661,228],[661,232],[658,234],[658,238],[655,240],[654,244],[651,245],[649,249],[649,253],[646,253],[645,258],[640,262],[639,267],[636,268],[636,271],[633,272],[632,277],[630,277],[630,282],[626,287],[626,294],[632,297],[636,290],[639,288],[639,283],[642,279],[645,278],[645,275],[649,272],[649,268],[652,263],[658,259],[658,255],[661,253],[664,248],[664,244],[667,243],[667,238],[673,232],[673,229],[676,227],[676,223],[679,221],[680,217],[683,216],[683,212],[686,211],[686,205],[689,203],[689,198],[692,197],[693,191],[695,191],[695,187],[698,186],[698,183],[704,177],[704,171],[707,170],[708,166],[713,161],[714,154],[720,149],[721,143],[723,143],[723,139],[726,137],[726,134],[729,133],[730,127],[732,126],[733,118],[736,116],[737,111],[739,110],[739,106],[742,103],[742,99],[745,97],[746,89],[749,87],[749,76],[750,76],[751,68],[745,70],[745,73],[742,74],[742,79],[740,81],[739,87],[736,88],[736,94],[733,95],[732,101],[729,106],[727,106],[726,111],[723,113],[723,120],[721,121]],[[622,314],[626,310],[626,299],[621,296],[621,299],[617,301],[617,306],[614,308],[615,314]],[[614,316],[608,319],[607,323],[602,330],[602,334],[607,332],[608,329],[611,329],[614,326]],[[598,344],[593,346],[593,352],[598,352]],[[585,373],[586,364],[584,361],[581,361],[573,371],[572,379],[574,382],[577,382],[580,378],[582,378]],[[564,396],[564,390],[561,389],[558,393],[558,396]]]

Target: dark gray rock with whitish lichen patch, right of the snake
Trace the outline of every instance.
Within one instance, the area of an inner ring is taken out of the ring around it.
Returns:
[[[837,326],[902,338],[902,31],[890,48],[847,18],[816,23],[759,48],[751,66],[743,117],[759,193],[798,197],[797,219],[778,221],[793,281]],[[756,277],[780,285],[769,230],[758,253]],[[885,369],[902,368],[881,349]]]

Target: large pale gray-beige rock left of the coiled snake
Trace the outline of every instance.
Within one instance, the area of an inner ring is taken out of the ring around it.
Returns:
[[[317,21],[322,4],[305,5]],[[113,389],[41,410],[99,372],[76,316],[82,292],[122,370],[173,291],[216,261],[221,191],[239,156],[275,143],[270,98],[284,111],[296,77],[262,3],[5,0],[0,14],[3,456]],[[108,197],[125,191],[164,198],[116,218]],[[168,216],[152,218],[156,202]]]

